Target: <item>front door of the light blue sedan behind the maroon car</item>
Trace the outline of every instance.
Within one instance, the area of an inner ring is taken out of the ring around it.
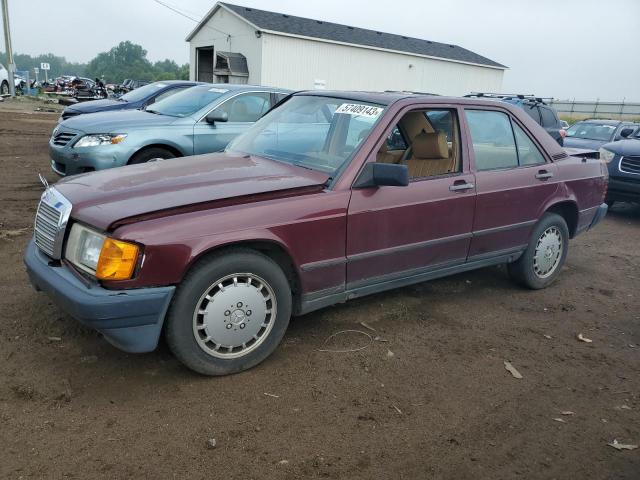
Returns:
[[[194,155],[224,150],[231,140],[246,132],[269,108],[269,92],[241,93],[216,106],[212,110],[226,112],[229,121],[210,124],[201,118],[193,127]]]

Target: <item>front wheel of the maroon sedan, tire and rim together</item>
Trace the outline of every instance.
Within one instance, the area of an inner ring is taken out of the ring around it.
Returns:
[[[248,249],[227,250],[196,264],[178,286],[165,338],[191,370],[241,372],[276,349],[289,325],[291,302],[287,277],[271,258]]]

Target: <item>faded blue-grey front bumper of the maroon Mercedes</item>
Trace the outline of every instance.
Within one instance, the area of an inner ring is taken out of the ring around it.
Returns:
[[[175,287],[107,290],[87,285],[65,266],[51,260],[29,241],[24,263],[31,284],[46,292],[65,312],[98,332],[115,347],[131,353],[158,345]]]

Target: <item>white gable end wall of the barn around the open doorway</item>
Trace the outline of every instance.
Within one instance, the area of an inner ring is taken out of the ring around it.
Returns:
[[[225,35],[222,32],[228,32]],[[260,85],[262,42],[255,29],[233,13],[219,9],[189,42],[189,79],[196,80],[196,48],[213,45],[215,51],[238,52],[247,57],[249,78],[245,83]],[[214,56],[215,59],[215,56]],[[234,82],[238,83],[238,81]]]

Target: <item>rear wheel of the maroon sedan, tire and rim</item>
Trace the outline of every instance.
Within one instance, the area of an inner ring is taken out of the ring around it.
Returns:
[[[509,275],[527,288],[546,288],[560,274],[568,249],[567,222],[560,215],[545,213],[533,229],[525,252],[507,266]]]

